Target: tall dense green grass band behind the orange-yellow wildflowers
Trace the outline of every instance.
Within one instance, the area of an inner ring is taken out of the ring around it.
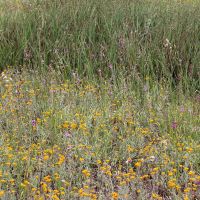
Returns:
[[[122,78],[199,89],[198,3],[2,1],[1,8],[1,68],[57,68],[87,77],[101,71],[108,78],[112,66]]]

